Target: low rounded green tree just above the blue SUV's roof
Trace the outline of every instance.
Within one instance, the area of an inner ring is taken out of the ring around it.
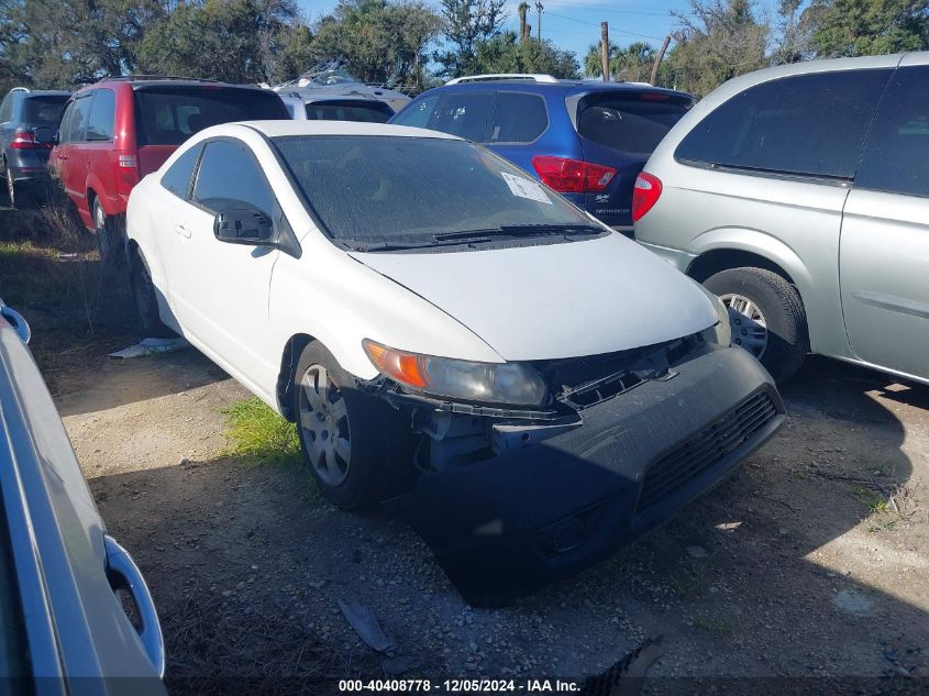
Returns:
[[[550,41],[520,42],[516,32],[504,32],[474,45],[475,73],[543,73],[558,78],[577,78],[580,65],[572,51],[556,48]]]

